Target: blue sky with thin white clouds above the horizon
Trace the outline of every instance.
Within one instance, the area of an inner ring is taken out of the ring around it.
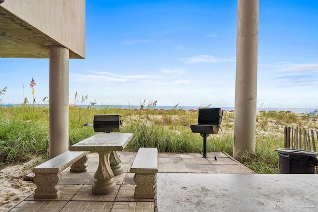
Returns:
[[[257,107],[318,108],[318,1],[260,0]],[[237,0],[86,0],[70,103],[234,107]],[[49,97],[48,59],[0,59],[4,103]],[[22,87],[22,83],[24,88]]]

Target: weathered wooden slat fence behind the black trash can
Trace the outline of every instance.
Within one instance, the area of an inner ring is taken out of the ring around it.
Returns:
[[[285,127],[284,129],[285,148],[316,151],[316,141],[318,141],[318,131],[306,130],[302,127]]]

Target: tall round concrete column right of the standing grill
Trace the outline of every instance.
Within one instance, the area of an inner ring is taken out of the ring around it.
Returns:
[[[255,153],[259,0],[238,0],[233,156]]]

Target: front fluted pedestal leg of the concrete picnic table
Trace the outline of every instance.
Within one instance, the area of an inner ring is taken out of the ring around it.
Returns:
[[[97,195],[110,194],[116,189],[114,183],[113,171],[110,167],[109,156],[110,152],[98,152],[99,164],[95,173],[95,181],[92,185],[92,193]]]

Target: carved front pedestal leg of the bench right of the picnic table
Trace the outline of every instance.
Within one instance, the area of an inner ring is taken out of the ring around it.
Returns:
[[[135,195],[137,198],[154,198],[155,196],[155,174],[135,174]]]

